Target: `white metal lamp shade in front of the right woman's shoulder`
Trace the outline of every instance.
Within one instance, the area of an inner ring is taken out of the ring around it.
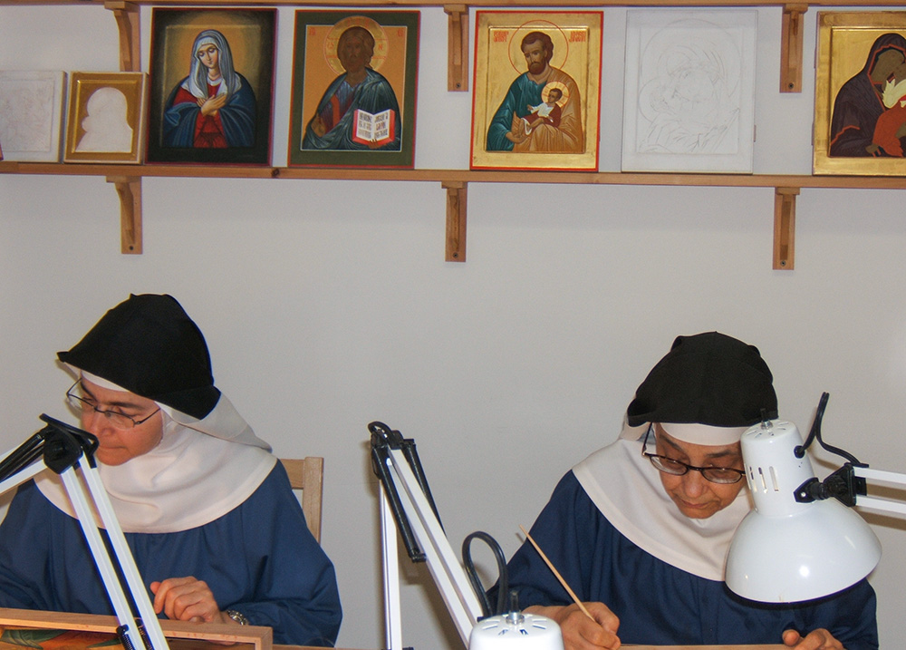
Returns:
[[[881,559],[881,543],[858,513],[835,499],[798,503],[795,490],[814,478],[795,424],[757,424],[742,436],[755,509],[730,543],[727,586],[769,603],[811,600],[850,587]]]

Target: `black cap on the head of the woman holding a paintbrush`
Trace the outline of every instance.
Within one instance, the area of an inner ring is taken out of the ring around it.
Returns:
[[[641,383],[628,422],[742,427],[777,417],[774,377],[755,345],[719,332],[678,336]]]

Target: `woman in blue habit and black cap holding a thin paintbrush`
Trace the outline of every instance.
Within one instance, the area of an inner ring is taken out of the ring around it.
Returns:
[[[527,543],[508,563],[519,606],[556,620],[566,650],[876,650],[866,580],[780,605],[745,600],[724,582],[730,539],[753,507],[739,439],[776,417],[773,377],[755,346],[717,332],[679,336],[641,383],[619,438],[566,473],[531,529],[594,620]]]

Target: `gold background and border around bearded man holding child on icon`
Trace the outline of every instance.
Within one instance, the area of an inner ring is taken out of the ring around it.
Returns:
[[[597,170],[603,12],[479,11],[475,22],[471,168]],[[525,73],[519,43],[529,31],[552,36],[551,66],[570,75],[578,86],[584,141],[581,152],[487,150],[487,130],[494,113],[510,83]]]

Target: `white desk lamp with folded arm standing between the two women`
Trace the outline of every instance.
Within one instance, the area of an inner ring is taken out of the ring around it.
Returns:
[[[564,650],[560,626],[546,616],[518,611],[491,614],[474,571],[467,576],[449,541],[422,470],[415,441],[404,439],[383,422],[371,422],[371,469],[381,483],[381,547],[384,568],[384,616],[389,650],[404,649],[401,634],[400,566],[397,534],[413,562],[428,562],[431,577],[469,650]],[[394,527],[394,522],[396,526]],[[472,533],[463,542],[467,557]],[[496,547],[499,587],[506,593],[506,561]],[[467,558],[470,566],[470,558]],[[471,579],[470,579],[471,577]],[[498,605],[498,608],[502,603]],[[482,616],[482,615],[486,616]]]

